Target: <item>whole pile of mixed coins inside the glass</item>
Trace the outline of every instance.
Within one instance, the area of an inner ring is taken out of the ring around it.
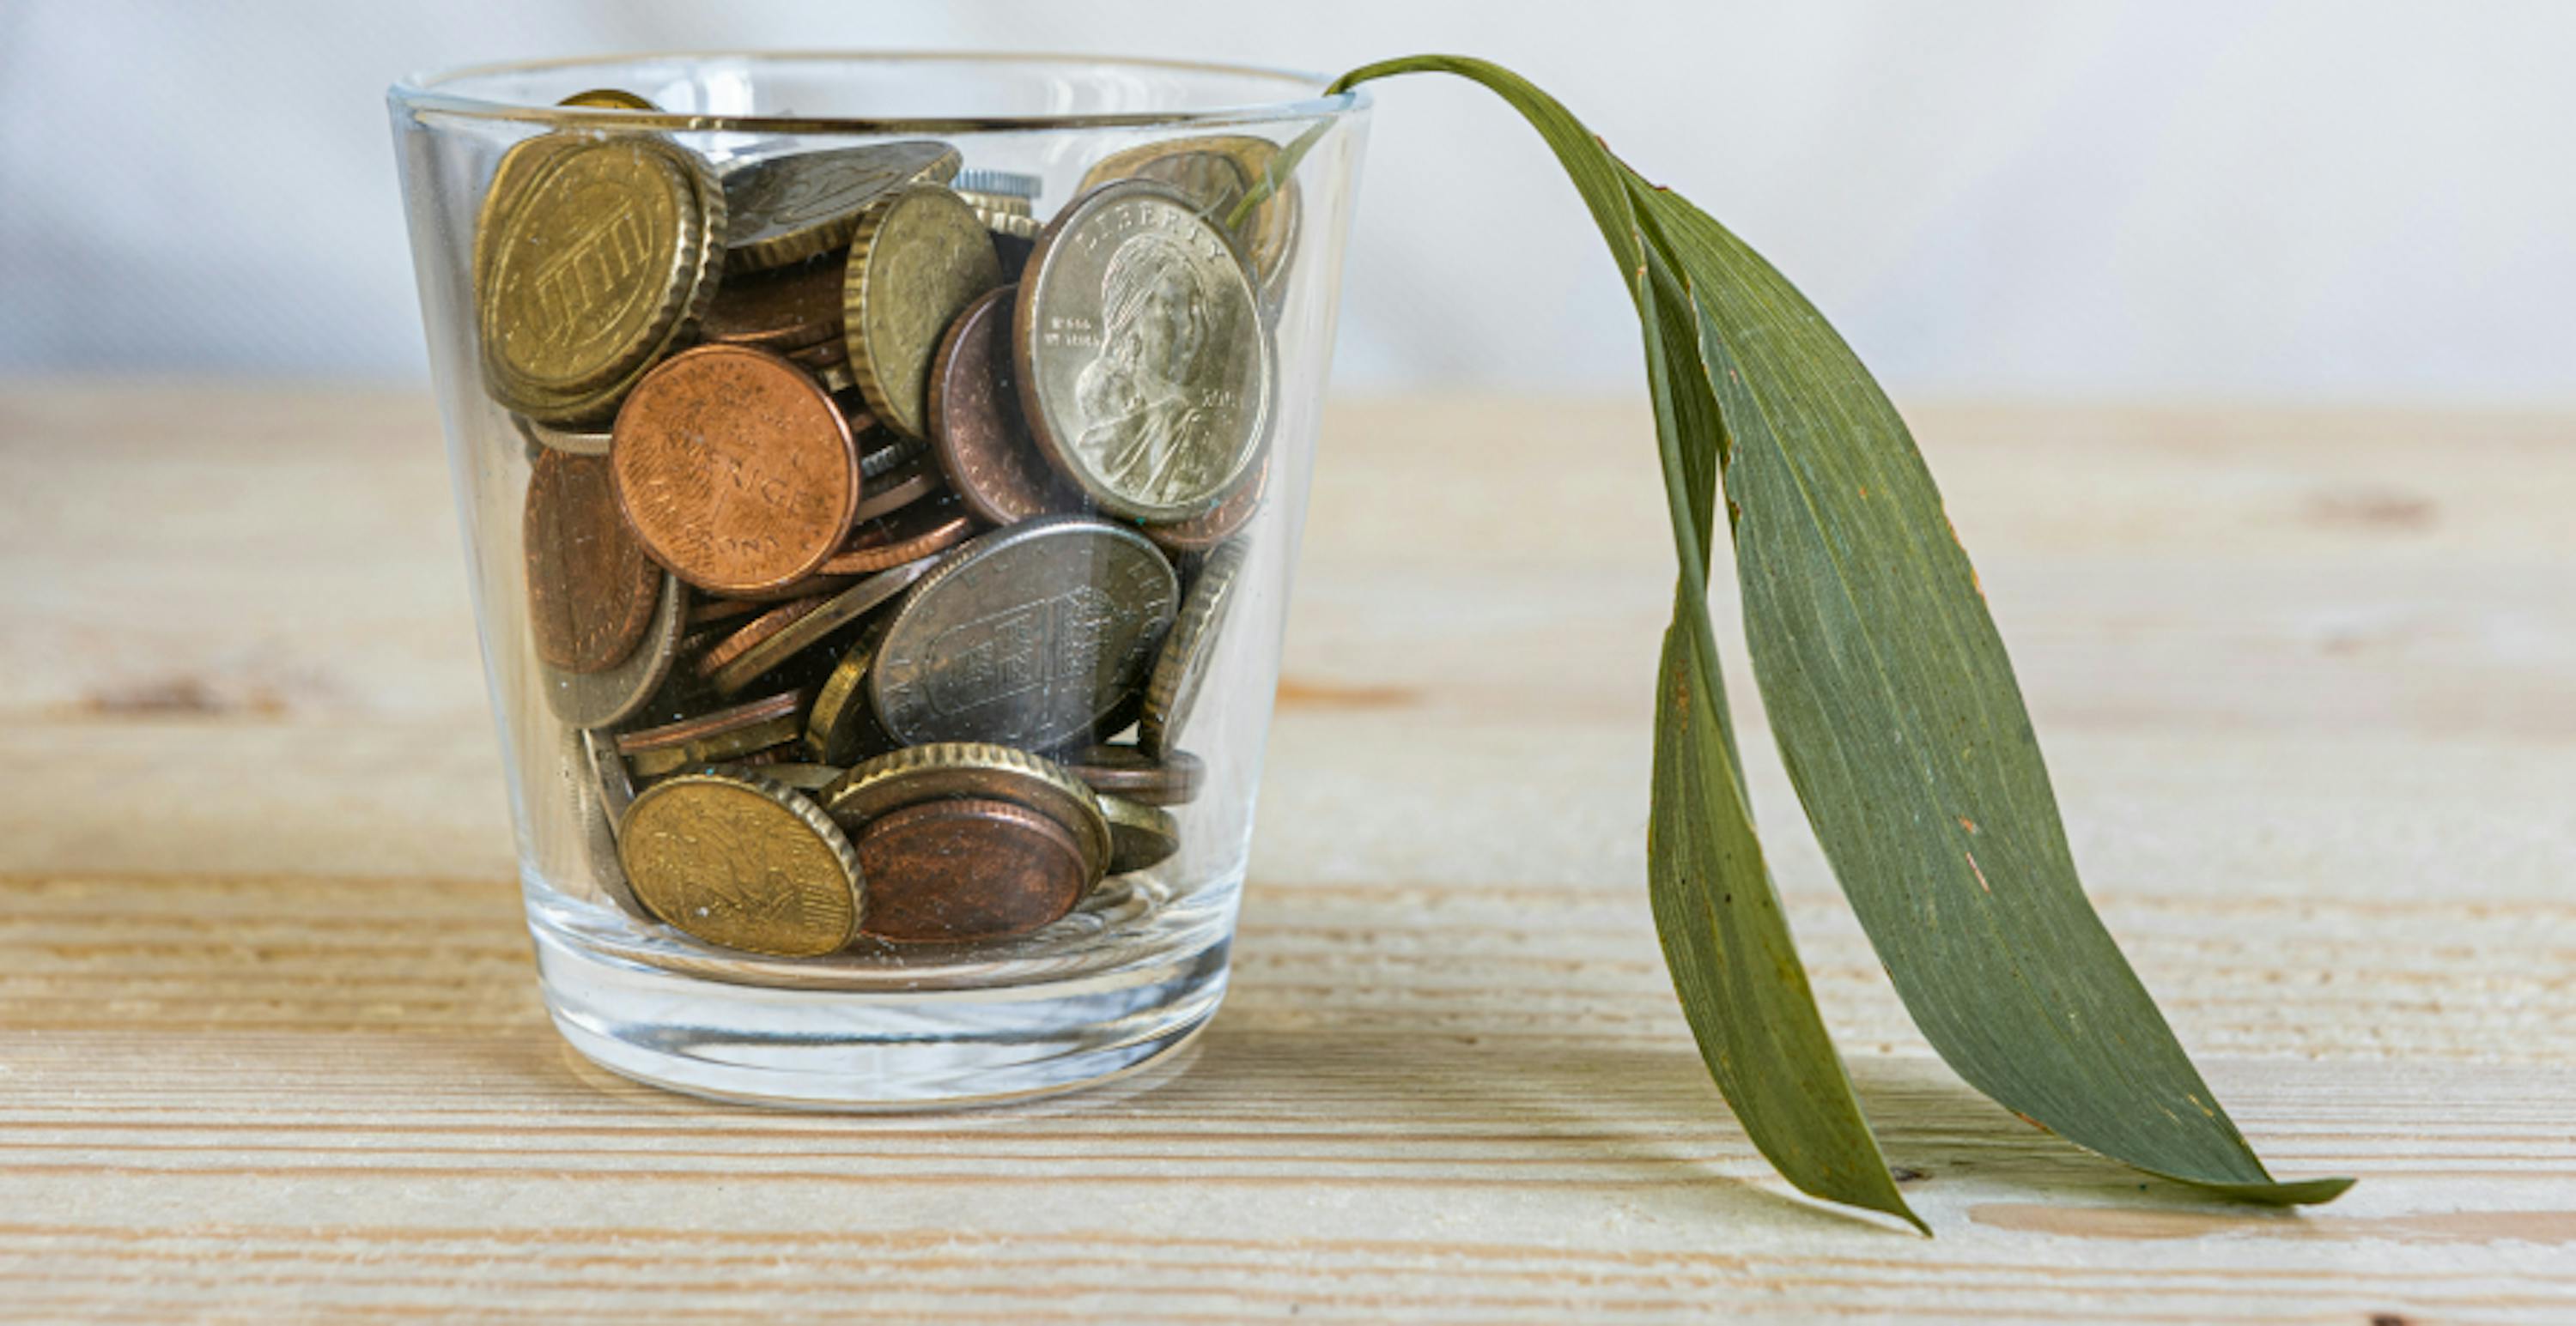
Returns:
[[[1270,474],[1275,154],[1131,147],[1043,224],[943,142],[502,157],[482,376],[616,904],[788,958],[958,945],[1182,847]]]

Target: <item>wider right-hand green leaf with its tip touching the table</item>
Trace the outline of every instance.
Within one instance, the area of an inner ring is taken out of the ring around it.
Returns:
[[[2259,1202],[2352,1187],[2272,1182],[2084,899],[2012,659],[1896,407],[1741,239],[1672,193],[1638,209],[1690,278],[1734,438],[1772,734],[1924,1038],[2007,1110],[2138,1169]]]

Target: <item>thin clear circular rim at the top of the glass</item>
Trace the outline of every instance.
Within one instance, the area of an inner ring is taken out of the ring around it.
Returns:
[[[822,64],[822,62],[914,62],[914,64],[1113,64],[1131,70],[1170,70],[1195,75],[1231,75],[1311,90],[1301,98],[1255,100],[1177,111],[1077,111],[1056,116],[706,116],[688,111],[626,111],[600,106],[523,106],[510,100],[477,98],[440,90],[440,85],[528,72],[613,70],[621,64],[652,62],[768,62],[768,64]],[[386,100],[410,113],[438,113],[477,121],[515,121],[551,129],[654,129],[654,131],[750,131],[750,134],[1007,134],[1046,129],[1151,129],[1151,126],[1224,126],[1301,118],[1340,118],[1368,111],[1365,90],[1327,95],[1329,80],[1309,70],[1275,64],[1231,64],[1213,59],[1167,59],[1087,51],[866,51],[866,49],[814,49],[814,51],[629,51],[551,59],[500,59],[484,64],[456,64],[435,72],[417,72],[386,88]]]

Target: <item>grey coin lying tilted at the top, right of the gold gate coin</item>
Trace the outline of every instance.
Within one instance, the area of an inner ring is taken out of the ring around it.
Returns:
[[[850,242],[858,214],[914,180],[945,180],[958,152],[945,142],[873,142],[827,152],[757,157],[724,173],[734,214],[724,265],[737,273],[783,268]]]

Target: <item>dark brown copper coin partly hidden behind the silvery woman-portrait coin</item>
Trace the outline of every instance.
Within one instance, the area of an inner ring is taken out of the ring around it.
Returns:
[[[948,487],[994,525],[1079,510],[1020,420],[1020,386],[1010,360],[1010,309],[1018,294],[1018,286],[1002,286],[969,304],[930,355],[930,453],[948,474]]]

